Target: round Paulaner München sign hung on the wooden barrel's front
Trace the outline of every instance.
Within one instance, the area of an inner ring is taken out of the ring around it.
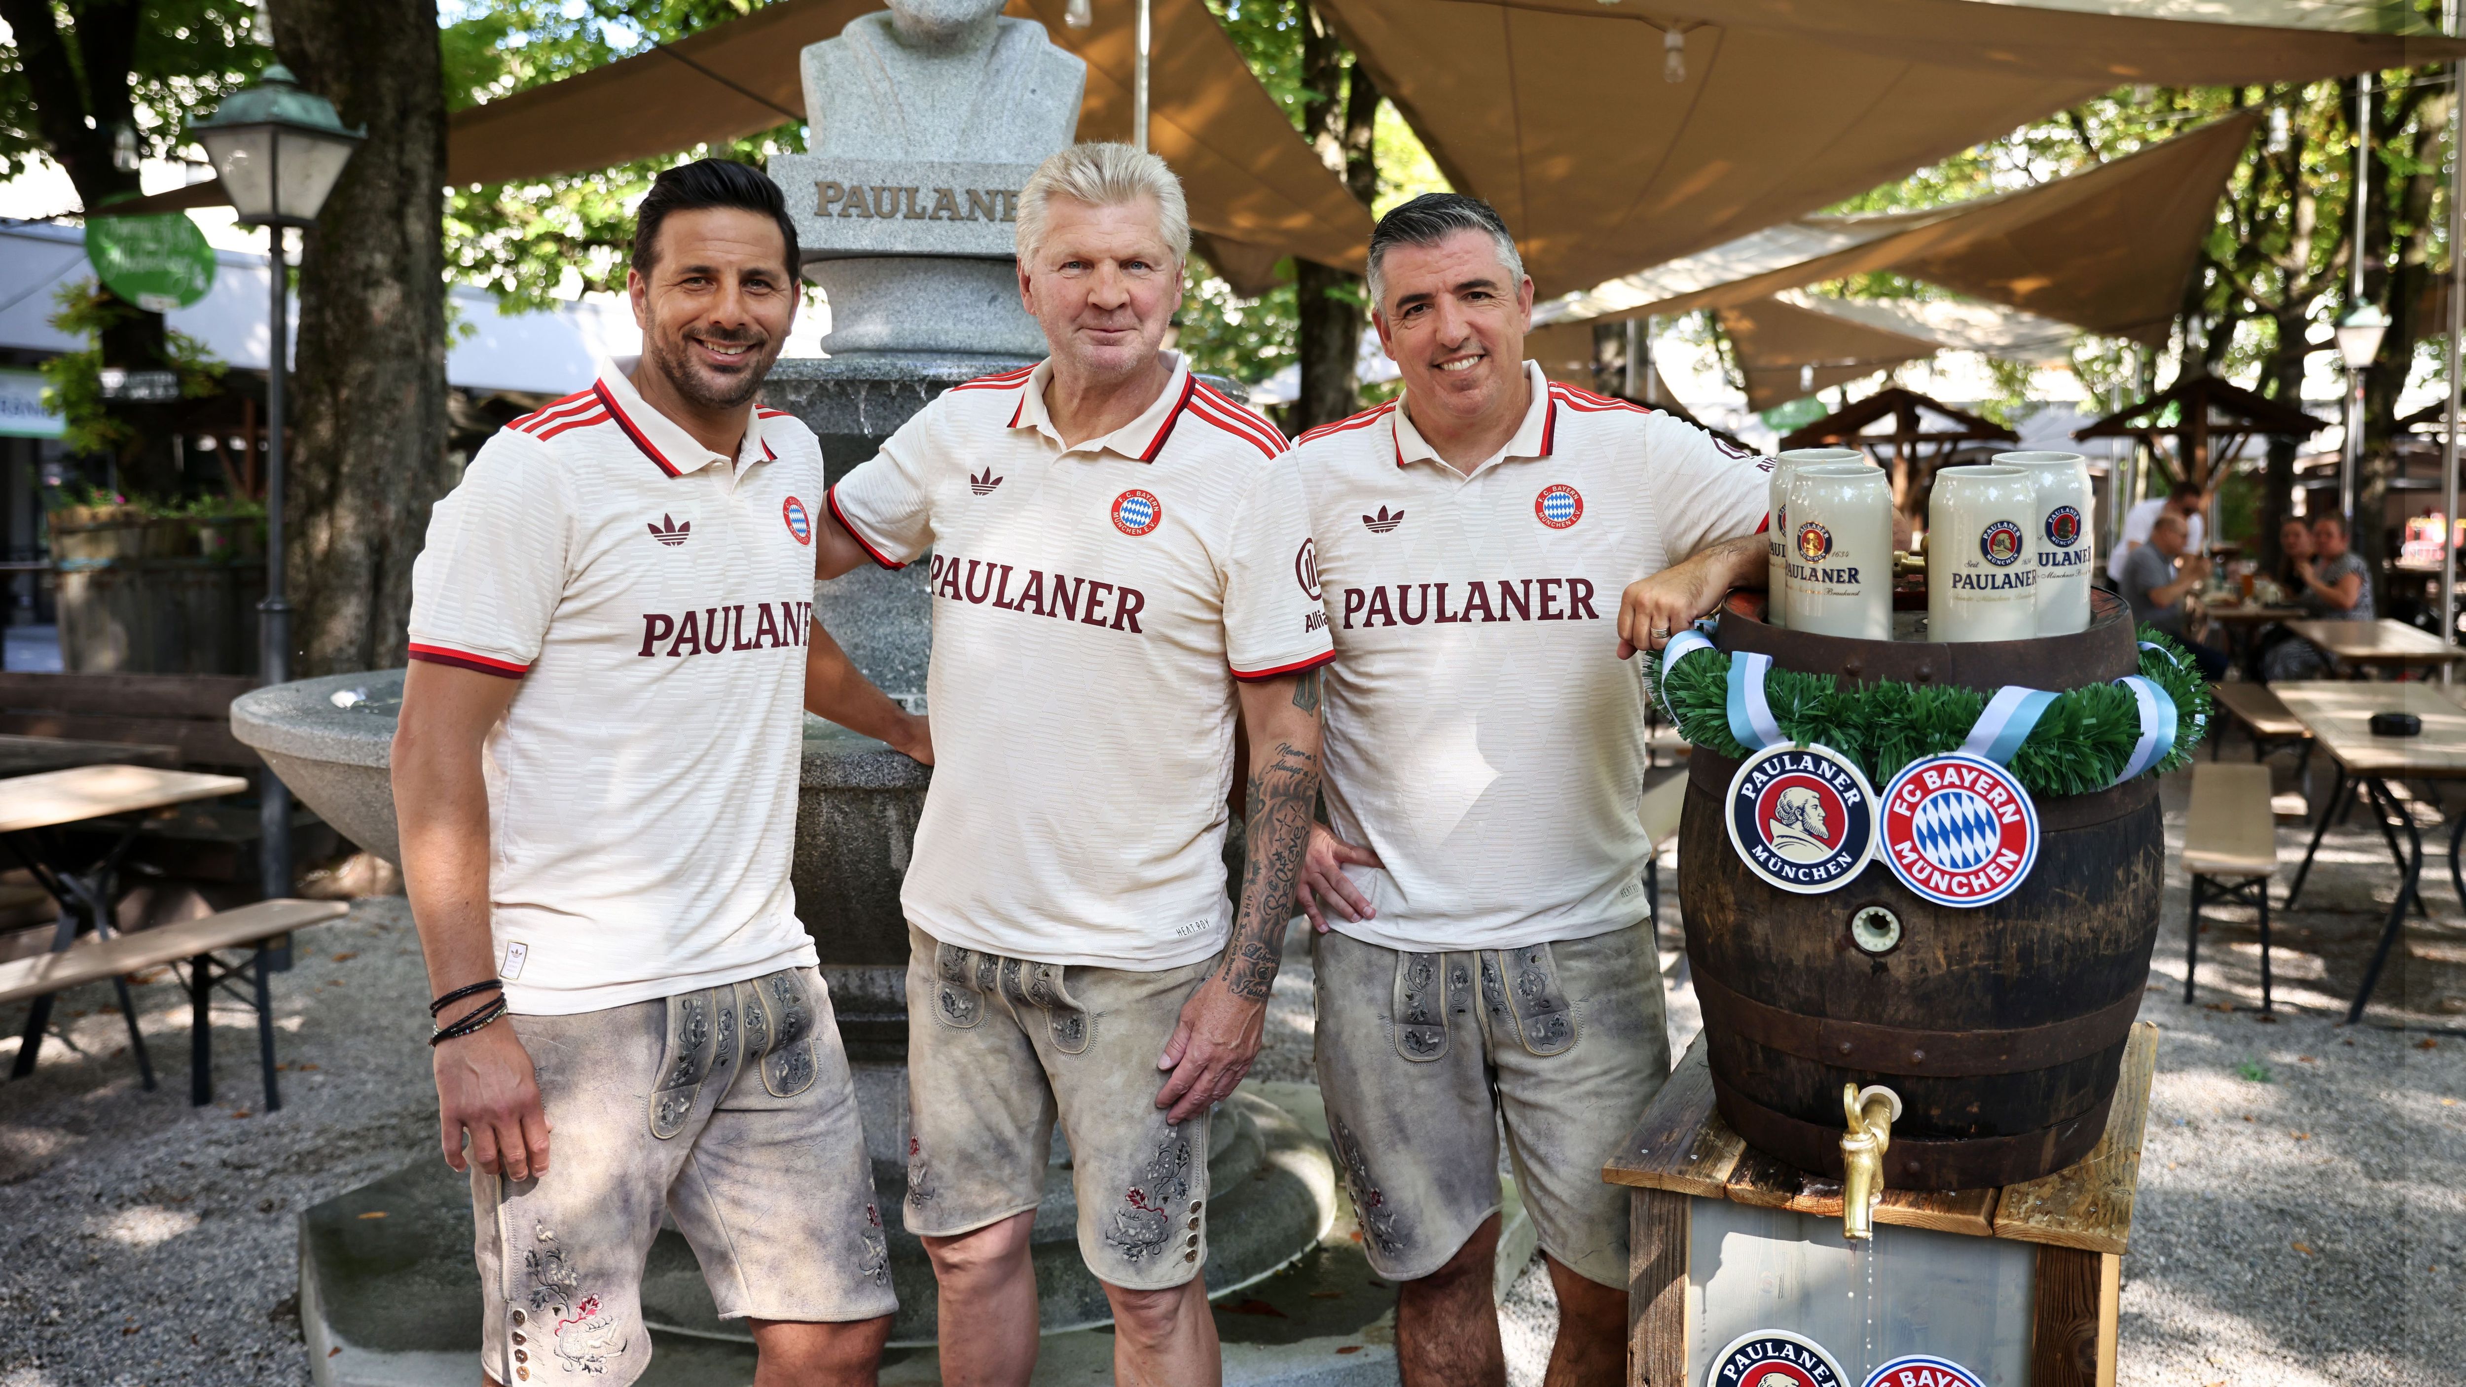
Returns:
[[[1783,892],[1830,892],[1874,852],[1874,788],[1830,746],[1766,746],[1729,778],[1729,845]]]

